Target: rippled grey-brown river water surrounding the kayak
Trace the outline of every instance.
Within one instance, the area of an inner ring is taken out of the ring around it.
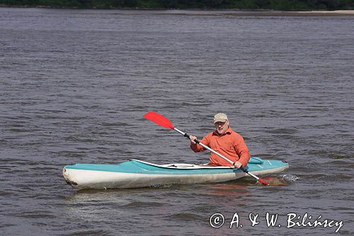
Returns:
[[[353,235],[353,22],[0,9],[1,235]],[[227,113],[253,156],[289,162],[285,184],[65,183],[79,162],[207,162],[147,111],[198,137]]]

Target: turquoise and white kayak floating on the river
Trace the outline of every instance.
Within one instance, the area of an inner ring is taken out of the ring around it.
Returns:
[[[251,157],[246,165],[252,174],[274,174],[289,164],[279,160]],[[239,179],[247,174],[232,167],[206,164],[152,164],[131,159],[120,164],[72,164],[62,170],[64,179],[74,189],[133,189],[166,184],[218,183]]]

